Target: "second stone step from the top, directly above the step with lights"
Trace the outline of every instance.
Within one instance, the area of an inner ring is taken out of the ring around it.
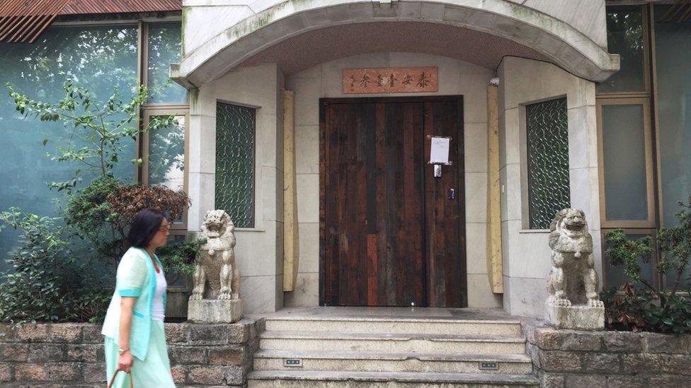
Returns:
[[[452,334],[371,334],[332,331],[265,331],[259,348],[285,351],[522,354],[521,337]]]

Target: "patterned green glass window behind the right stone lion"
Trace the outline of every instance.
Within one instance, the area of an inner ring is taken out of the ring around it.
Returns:
[[[566,98],[525,107],[530,229],[547,229],[571,206]]]

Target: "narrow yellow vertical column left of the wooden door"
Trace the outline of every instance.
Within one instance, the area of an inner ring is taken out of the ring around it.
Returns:
[[[283,90],[283,290],[292,291],[299,261],[295,176],[295,93]]]

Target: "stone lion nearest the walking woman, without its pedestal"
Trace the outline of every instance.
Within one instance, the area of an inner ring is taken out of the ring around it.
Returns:
[[[240,272],[235,265],[235,225],[222,210],[206,213],[200,237],[206,238],[194,273],[190,300],[238,300]]]

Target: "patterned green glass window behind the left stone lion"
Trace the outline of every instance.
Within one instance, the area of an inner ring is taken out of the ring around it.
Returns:
[[[254,227],[255,111],[216,106],[216,208],[228,213],[236,228]]]

